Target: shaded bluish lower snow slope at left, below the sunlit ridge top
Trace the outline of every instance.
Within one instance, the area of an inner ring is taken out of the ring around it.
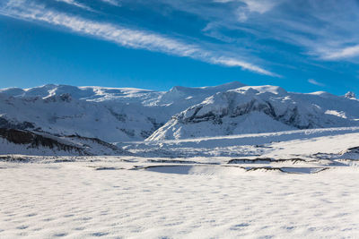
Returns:
[[[153,123],[141,105],[108,104],[72,98],[68,94],[48,98],[1,98],[1,127],[60,135],[79,134],[104,141],[140,139]],[[137,110],[140,113],[137,113]],[[142,111],[142,112],[141,112]]]

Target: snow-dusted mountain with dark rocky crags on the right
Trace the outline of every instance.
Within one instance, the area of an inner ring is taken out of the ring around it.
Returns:
[[[276,86],[245,86],[216,93],[174,115],[147,140],[359,125],[359,101],[324,92],[289,93]]]

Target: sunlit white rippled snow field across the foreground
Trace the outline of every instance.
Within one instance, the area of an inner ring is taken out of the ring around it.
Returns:
[[[215,175],[2,164],[0,237],[359,236],[359,172]]]

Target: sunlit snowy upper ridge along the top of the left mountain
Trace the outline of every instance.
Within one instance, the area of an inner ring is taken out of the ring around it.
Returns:
[[[175,86],[169,91],[153,91],[135,88],[108,88],[48,84],[30,89],[7,88],[0,89],[0,95],[13,98],[49,98],[70,94],[72,98],[86,101],[115,101],[121,103],[141,103],[145,106],[178,105],[188,101],[187,107],[200,103],[205,98],[226,90],[244,86],[241,82],[233,81],[219,86],[188,88]],[[191,99],[191,100],[189,100]]]

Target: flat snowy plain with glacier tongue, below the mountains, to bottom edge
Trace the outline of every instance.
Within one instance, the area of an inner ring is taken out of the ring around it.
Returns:
[[[0,238],[357,238],[359,128],[0,157]]]

